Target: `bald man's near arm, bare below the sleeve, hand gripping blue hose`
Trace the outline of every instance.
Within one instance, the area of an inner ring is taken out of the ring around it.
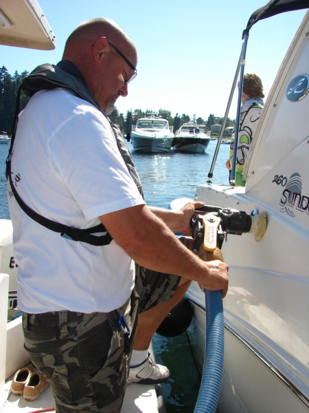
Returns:
[[[195,280],[208,290],[222,290],[225,297],[227,264],[200,260],[146,205],[122,209],[99,218],[115,242],[141,266]]]

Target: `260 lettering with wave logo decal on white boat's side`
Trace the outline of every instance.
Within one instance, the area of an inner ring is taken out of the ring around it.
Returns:
[[[302,183],[299,173],[292,173],[290,178],[275,175],[272,180],[275,184],[284,187],[279,200],[280,211],[295,218],[295,209],[309,215],[309,196],[301,195]]]

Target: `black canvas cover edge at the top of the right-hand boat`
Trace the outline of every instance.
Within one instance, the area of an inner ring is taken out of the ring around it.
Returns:
[[[291,12],[293,10],[301,10],[305,8],[309,8],[309,0],[271,0],[266,4],[266,6],[255,10],[255,12],[251,15],[247,28],[242,34],[242,39],[244,39],[244,35],[246,33],[249,33],[249,30],[253,24],[257,23],[259,20],[267,19],[268,17],[275,16],[279,13]]]

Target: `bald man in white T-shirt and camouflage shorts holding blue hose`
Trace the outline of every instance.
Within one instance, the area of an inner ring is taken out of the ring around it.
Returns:
[[[58,65],[37,67],[22,85],[32,97],[12,138],[8,187],[18,299],[25,348],[58,413],[119,412],[127,382],[168,379],[148,352],[165,315],[191,280],[227,293],[227,265],[203,262],[174,236],[190,235],[202,204],[147,207],[106,117],[136,66],[124,31],[93,19],[69,36]]]

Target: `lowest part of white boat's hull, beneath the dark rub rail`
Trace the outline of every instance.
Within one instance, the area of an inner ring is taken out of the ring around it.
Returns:
[[[187,298],[190,299],[190,292]],[[202,369],[205,352],[205,303],[202,308],[191,299],[190,302],[196,324],[190,328],[189,337],[198,366]],[[271,362],[242,335],[229,328],[227,323],[224,357],[218,413],[308,412],[308,407],[290,389],[290,383],[286,382]],[[240,393],[238,389],[241,389]]]

